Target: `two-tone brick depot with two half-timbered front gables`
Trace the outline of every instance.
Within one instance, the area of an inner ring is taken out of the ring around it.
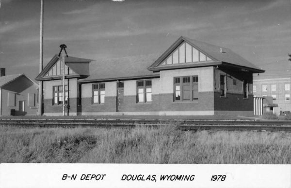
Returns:
[[[55,55],[43,81],[44,115],[253,115],[253,73],[230,49],[181,36],[162,55],[94,61]]]

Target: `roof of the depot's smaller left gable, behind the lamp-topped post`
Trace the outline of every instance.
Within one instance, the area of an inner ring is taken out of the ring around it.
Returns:
[[[35,79],[40,80],[42,77],[44,77],[59,59],[61,58],[58,55],[54,55],[43,71],[40,72]],[[92,59],[76,58],[71,56],[65,57],[65,64],[79,75],[89,75],[89,70],[86,67],[88,67],[88,63],[91,61]]]

